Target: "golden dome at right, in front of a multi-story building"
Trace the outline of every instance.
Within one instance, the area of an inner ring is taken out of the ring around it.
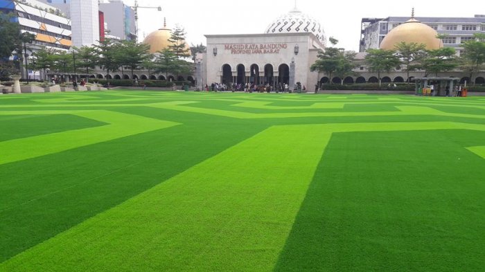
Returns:
[[[436,30],[412,17],[404,24],[387,33],[380,43],[380,49],[396,50],[394,46],[400,42],[424,44],[427,50],[443,47],[441,39],[436,38]]]

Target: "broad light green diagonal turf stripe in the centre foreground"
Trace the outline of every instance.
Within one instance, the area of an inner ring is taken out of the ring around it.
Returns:
[[[0,271],[271,271],[330,138],[310,128],[270,127]]]

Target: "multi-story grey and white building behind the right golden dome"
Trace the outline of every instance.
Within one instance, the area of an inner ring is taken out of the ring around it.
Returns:
[[[362,18],[359,51],[379,48],[387,33],[408,19],[409,17]],[[457,55],[463,52],[461,43],[473,39],[474,33],[485,33],[485,15],[464,18],[416,17],[416,19],[436,30],[438,34],[446,34],[443,45],[455,48]]]

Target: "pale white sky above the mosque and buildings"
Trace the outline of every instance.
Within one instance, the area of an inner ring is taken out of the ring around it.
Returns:
[[[134,6],[134,0],[123,0]],[[455,3],[450,5],[449,3]],[[295,6],[294,0],[139,0],[139,36],[143,37],[161,28],[164,17],[168,28],[182,26],[186,41],[206,44],[204,35],[264,33],[276,18]],[[416,17],[474,17],[485,15],[485,1],[322,1],[297,0],[297,8],[315,18],[323,26],[327,37],[339,40],[337,46],[358,51],[360,21],[363,17],[410,17],[412,8]]]

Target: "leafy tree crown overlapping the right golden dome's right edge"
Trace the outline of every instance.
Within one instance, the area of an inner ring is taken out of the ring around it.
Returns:
[[[427,57],[422,65],[426,75],[433,73],[436,77],[440,72],[455,69],[458,66],[455,48],[443,47],[427,51]]]

